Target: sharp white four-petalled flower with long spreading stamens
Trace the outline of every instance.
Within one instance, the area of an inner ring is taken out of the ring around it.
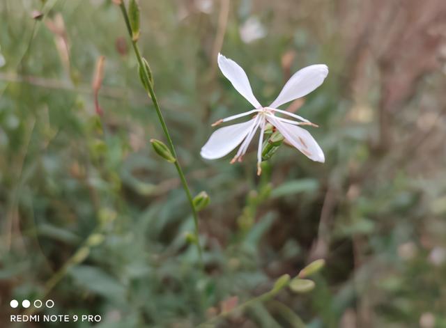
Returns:
[[[276,100],[274,100],[268,107],[263,107],[259,101],[256,100],[245,71],[235,61],[222,56],[222,54],[218,54],[218,66],[226,79],[231,81],[233,87],[236,88],[240,95],[243,95],[252,106],[254,106],[254,109],[245,111],[245,113],[242,114],[223,118],[222,120],[217,120],[213,126],[251,114],[254,114],[255,116],[247,122],[229,125],[215,131],[210,136],[208,142],[201,148],[201,157],[205,159],[217,159],[223,157],[231,153],[231,151],[241,143],[236,156],[231,160],[231,164],[236,162],[237,159],[240,162],[243,155],[245,155],[256,130],[260,129],[259,148],[257,152],[257,174],[260,175],[263,132],[265,131],[266,124],[270,123],[279,130],[291,145],[298,148],[298,150],[309,159],[316,162],[325,162],[321,147],[319,147],[318,143],[316,143],[307,130],[298,126],[314,124],[301,116],[277,109],[277,107],[303,97],[320,86],[328,75],[327,65],[310,65],[295,72],[289,81],[286,82]],[[295,118],[298,121],[282,118],[275,114],[291,116],[291,118]]]

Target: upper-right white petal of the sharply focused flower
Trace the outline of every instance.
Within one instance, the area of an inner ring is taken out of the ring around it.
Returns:
[[[302,70],[298,70],[286,82],[276,100],[270,104],[270,107],[277,108],[282,104],[286,104],[286,102],[308,95],[322,84],[327,75],[328,67],[322,64],[310,65],[302,68]]]

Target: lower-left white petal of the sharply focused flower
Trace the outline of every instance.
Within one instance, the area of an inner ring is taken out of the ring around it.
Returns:
[[[201,157],[217,159],[231,153],[245,139],[256,124],[256,118],[244,123],[221,127],[210,135],[208,142],[201,148]]]

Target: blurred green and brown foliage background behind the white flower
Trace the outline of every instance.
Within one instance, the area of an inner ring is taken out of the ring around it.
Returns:
[[[312,292],[282,290],[217,327],[446,327],[446,2],[139,3],[180,162],[210,196],[204,269],[178,175],[149,143],[164,136],[119,8],[3,0],[0,326],[195,327],[324,258]],[[241,164],[201,159],[210,123],[251,109],[218,52],[263,104],[299,68],[328,65],[289,104],[320,126],[325,164],[282,146],[258,178],[255,143]],[[11,325],[25,311],[11,299],[102,320]]]

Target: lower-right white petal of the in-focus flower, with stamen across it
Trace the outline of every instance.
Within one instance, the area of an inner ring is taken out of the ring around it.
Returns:
[[[309,159],[316,162],[325,162],[325,156],[321,147],[319,147],[313,136],[302,127],[292,125],[289,123],[284,123],[277,118],[268,117],[268,120],[272,125],[277,127],[280,133],[283,134],[286,140],[289,141],[295,148],[298,148]]]

